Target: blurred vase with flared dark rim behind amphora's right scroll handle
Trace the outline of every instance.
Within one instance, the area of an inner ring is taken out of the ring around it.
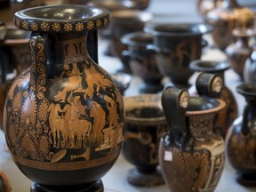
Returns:
[[[212,94],[203,92],[207,90],[206,86],[207,81],[205,81],[204,76],[197,76],[196,79],[196,90],[199,89],[199,94],[204,94],[209,97],[219,98],[226,102],[226,107],[218,113],[217,120],[215,122],[214,131],[219,132],[222,137],[225,139],[226,133],[228,132],[228,127],[233,124],[234,120],[238,114],[238,107],[236,103],[236,98],[233,92],[225,84],[225,71],[230,68],[230,65],[227,61],[214,61],[214,60],[193,60],[189,64],[189,68],[193,71],[204,71],[206,73],[218,74],[220,75],[223,86],[221,88],[220,94]],[[201,88],[203,86],[203,88]]]

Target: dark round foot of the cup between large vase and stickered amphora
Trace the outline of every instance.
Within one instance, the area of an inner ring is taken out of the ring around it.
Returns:
[[[154,187],[164,184],[162,173],[159,170],[149,174],[138,172],[136,168],[129,170],[128,181],[132,185],[140,187]]]

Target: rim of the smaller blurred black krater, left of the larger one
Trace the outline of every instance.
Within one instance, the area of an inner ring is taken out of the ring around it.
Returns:
[[[143,31],[132,32],[125,34],[121,37],[121,42],[123,44],[128,44],[132,46],[147,46],[148,44],[153,44],[153,36],[147,34]]]

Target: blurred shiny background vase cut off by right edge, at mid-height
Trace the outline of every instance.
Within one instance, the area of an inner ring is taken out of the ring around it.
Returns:
[[[245,60],[243,76],[244,83],[256,82],[256,47],[252,49],[250,56]]]

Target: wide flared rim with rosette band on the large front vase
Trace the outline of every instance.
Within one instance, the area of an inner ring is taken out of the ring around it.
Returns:
[[[81,32],[108,26],[107,9],[79,4],[37,6],[14,14],[17,28],[36,32]]]

